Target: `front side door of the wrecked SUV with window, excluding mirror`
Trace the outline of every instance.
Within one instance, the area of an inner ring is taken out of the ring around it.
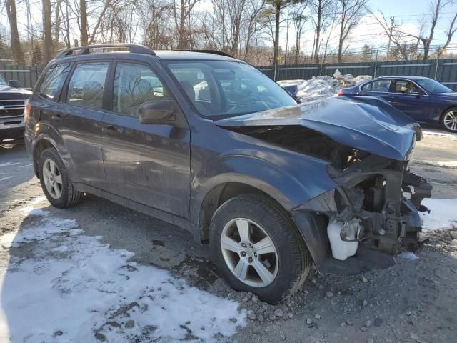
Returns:
[[[101,134],[106,183],[121,197],[189,217],[190,131],[184,116],[164,124],[141,124],[138,107],[170,99],[144,64],[117,62],[111,110]],[[176,106],[177,108],[177,106]]]

